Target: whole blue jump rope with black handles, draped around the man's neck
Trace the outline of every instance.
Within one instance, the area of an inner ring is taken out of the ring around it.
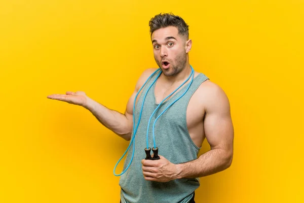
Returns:
[[[189,87],[191,86],[192,82],[193,82],[193,78],[194,78],[194,70],[193,70],[193,67],[192,65],[191,66],[191,74],[189,75],[189,77],[179,86],[177,87],[177,89],[175,89],[170,95],[168,95],[166,98],[164,98],[161,103],[158,105],[158,107],[154,110],[154,112],[152,113],[152,115],[150,116],[150,119],[149,119],[149,122],[148,122],[148,127],[147,127],[147,135],[146,135],[146,141],[147,141],[147,147],[144,149],[145,153],[146,153],[146,158],[145,159],[148,159],[148,160],[158,160],[160,159],[159,155],[158,155],[158,147],[156,147],[156,143],[155,143],[155,134],[154,134],[154,127],[155,127],[155,123],[156,121],[159,119],[159,117],[169,108],[171,107],[178,99],[180,99],[189,89]],[[142,105],[141,105],[141,109],[140,109],[140,113],[139,113],[139,119],[138,119],[138,123],[137,123],[137,126],[135,128],[135,102],[136,102],[136,98],[137,98],[137,95],[139,94],[139,92],[141,91],[141,89],[145,86],[145,84],[148,82],[148,80],[153,76],[155,75],[159,70],[161,70],[160,68],[158,70],[156,70],[153,74],[150,75],[150,77],[145,81],[145,83],[142,85],[142,87],[139,89],[139,91],[137,92],[136,96],[135,96],[135,99],[134,99],[134,105],[133,105],[133,129],[134,129],[134,133],[133,133],[133,137],[131,139],[131,142],[129,144],[129,147],[127,148],[127,150],[125,151],[125,153],[123,154],[123,156],[118,160],[118,162],[116,163],[115,167],[114,167],[114,171],[113,171],[113,174],[115,176],[121,176],[123,175],[127,170],[128,168],[130,167],[132,161],[133,161],[133,157],[134,157],[134,151],[135,151],[135,142],[134,142],[134,139],[135,139],[135,135],[136,135],[136,132],[137,132],[137,129],[138,129],[138,125],[140,123],[140,119],[141,119],[141,113],[142,113],[142,109],[143,109],[143,104],[144,104],[144,100],[145,100],[145,97],[149,91],[149,89],[153,86],[153,84],[158,80],[158,78],[160,77],[160,75],[162,74],[162,71],[160,71],[160,73],[158,74],[158,76],[156,77],[156,79],[153,81],[153,83],[149,86],[149,88],[147,89],[144,97],[143,97],[143,100],[142,100]],[[170,104],[154,121],[154,124],[153,124],[153,143],[154,143],[154,147],[152,148],[152,151],[154,153],[154,156],[151,157],[151,148],[149,148],[149,145],[148,145],[148,131],[149,131],[149,125],[150,125],[150,121],[151,121],[151,118],[153,117],[154,113],[157,111],[157,109],[161,106],[161,104],[168,98],[170,97],[174,92],[176,92],[183,84],[185,84],[189,78],[192,76],[191,78],[191,81],[189,82],[188,84],[188,87],[186,89],[186,91],[181,95],[179,96],[177,99],[175,99],[172,104]],[[134,143],[133,143],[134,142]],[[130,163],[128,164],[128,166],[126,167],[126,169],[121,173],[121,174],[115,174],[115,171],[116,171],[116,167],[117,165],[119,164],[119,162],[122,160],[122,158],[126,155],[126,153],[129,151],[131,145],[133,143],[133,153],[132,153],[132,158],[130,160]]]

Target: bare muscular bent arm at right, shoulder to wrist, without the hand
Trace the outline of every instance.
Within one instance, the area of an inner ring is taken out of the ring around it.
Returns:
[[[218,86],[208,94],[204,129],[211,150],[198,159],[177,164],[177,178],[203,177],[228,168],[233,159],[234,129],[229,100]]]

